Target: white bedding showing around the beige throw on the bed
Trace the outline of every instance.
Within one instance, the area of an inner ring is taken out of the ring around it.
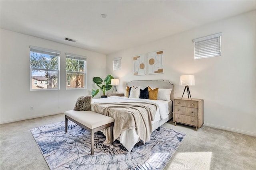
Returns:
[[[168,114],[172,112],[172,102],[170,101],[127,98],[127,97],[120,97],[120,96],[111,96],[108,98],[92,99],[91,110],[94,111],[93,110],[94,103],[116,103],[116,102],[152,102],[157,104],[158,108],[156,111],[155,119],[154,121],[152,121],[152,124],[162,119],[166,119],[168,117]],[[134,145],[138,143],[138,141],[140,141],[140,139],[135,129],[129,129],[127,131],[124,131],[120,135],[119,141],[130,152],[134,147]]]

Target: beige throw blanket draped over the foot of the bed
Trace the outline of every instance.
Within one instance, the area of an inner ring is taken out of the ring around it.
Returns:
[[[94,107],[95,112],[115,119],[114,141],[120,137],[123,131],[134,128],[144,143],[150,140],[151,121],[155,118],[156,104],[146,102],[94,103],[92,107]],[[105,143],[110,143],[110,128],[103,129],[103,133],[106,136]]]

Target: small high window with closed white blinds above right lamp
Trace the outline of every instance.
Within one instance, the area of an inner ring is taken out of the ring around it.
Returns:
[[[193,39],[195,59],[221,56],[221,35],[222,33],[217,33]]]

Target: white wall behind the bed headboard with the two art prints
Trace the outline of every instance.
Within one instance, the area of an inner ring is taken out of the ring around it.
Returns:
[[[176,97],[184,90],[180,75],[194,74],[190,92],[204,99],[205,125],[256,135],[255,21],[255,11],[248,12],[107,55],[107,72],[120,79],[119,92],[130,80],[165,79],[176,85]],[[220,32],[222,56],[194,60],[192,39]],[[132,57],[158,50],[164,50],[164,74],[133,76]],[[113,72],[116,57],[122,57],[122,70]]]

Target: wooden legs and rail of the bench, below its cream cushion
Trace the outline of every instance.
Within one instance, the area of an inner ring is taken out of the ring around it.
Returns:
[[[110,138],[110,143],[113,144],[113,127],[114,127],[114,122],[112,123],[108,123],[99,127],[96,127],[94,129],[90,129],[89,127],[86,127],[85,125],[83,125],[82,123],[72,119],[71,117],[68,117],[67,115],[65,115],[65,132],[68,132],[68,119],[71,120],[72,122],[78,124],[79,126],[81,126],[82,128],[88,130],[91,133],[91,155],[94,155],[94,133],[98,132],[102,129],[105,129],[107,127],[110,127],[110,131],[111,131],[111,138]]]

